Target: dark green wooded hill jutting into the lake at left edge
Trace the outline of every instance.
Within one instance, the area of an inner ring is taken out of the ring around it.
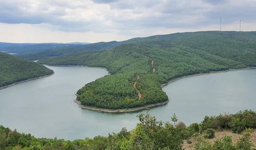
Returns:
[[[0,52],[0,87],[52,73],[41,64]]]

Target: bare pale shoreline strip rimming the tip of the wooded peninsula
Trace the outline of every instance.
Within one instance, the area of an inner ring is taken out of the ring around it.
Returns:
[[[159,102],[159,103],[155,103],[155,104],[147,104],[145,106],[126,108],[126,109],[107,109],[107,108],[97,108],[97,107],[93,107],[93,106],[86,106],[86,105],[82,105],[81,102],[78,101],[77,99],[75,99],[74,102],[76,104],[78,104],[78,106],[82,109],[92,110],[92,111],[96,111],[96,112],[124,113],[124,112],[138,112],[140,110],[145,110],[147,108],[153,108],[153,107],[157,107],[157,106],[166,105],[166,104],[168,104],[168,102],[170,102],[170,100],[168,99],[165,102]]]

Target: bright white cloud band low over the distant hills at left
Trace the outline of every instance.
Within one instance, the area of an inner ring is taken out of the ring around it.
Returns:
[[[47,24],[5,24],[0,23],[0,41],[16,43],[41,43],[41,42],[100,42],[112,40],[127,40],[132,36],[96,33],[96,32],[64,32],[49,30]]]

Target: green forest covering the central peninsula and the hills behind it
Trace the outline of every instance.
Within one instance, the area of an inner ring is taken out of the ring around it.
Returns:
[[[43,58],[39,63],[107,68],[111,75],[86,84],[78,90],[77,99],[97,108],[134,108],[168,101],[161,85],[170,80],[255,67],[256,32],[186,32],[134,38],[113,48],[72,52]],[[141,99],[133,87],[138,76],[136,88]]]

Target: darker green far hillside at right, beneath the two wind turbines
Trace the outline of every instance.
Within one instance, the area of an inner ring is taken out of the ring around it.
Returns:
[[[224,58],[231,58],[247,66],[256,66],[256,32],[206,31],[155,35],[133,38],[125,43],[173,42],[177,45],[209,52]]]

